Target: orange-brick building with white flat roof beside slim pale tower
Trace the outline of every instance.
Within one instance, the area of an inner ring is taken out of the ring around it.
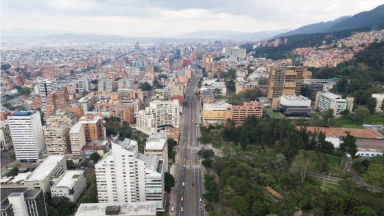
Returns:
[[[103,119],[101,117],[95,117],[92,114],[88,114],[79,119],[80,124],[84,125],[85,140],[99,141],[105,139],[105,129],[103,125]]]

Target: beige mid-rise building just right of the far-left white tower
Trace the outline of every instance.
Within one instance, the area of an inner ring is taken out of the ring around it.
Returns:
[[[65,155],[71,152],[69,127],[53,122],[44,126],[45,146],[48,155]]]

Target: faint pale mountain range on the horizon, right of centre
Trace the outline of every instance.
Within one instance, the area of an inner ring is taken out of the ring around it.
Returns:
[[[280,34],[287,32],[289,29],[278,29],[274,31],[265,31],[265,32],[236,32],[230,30],[211,30],[211,31],[197,31],[190,32],[187,34],[180,34],[175,38],[185,38],[185,39],[204,39],[204,40],[264,40]]]

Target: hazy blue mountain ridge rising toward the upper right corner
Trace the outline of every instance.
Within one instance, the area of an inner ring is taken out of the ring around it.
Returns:
[[[384,5],[373,10],[360,12],[354,16],[342,16],[334,21],[304,25],[293,31],[278,34],[274,38],[291,36],[295,34],[315,34],[326,32],[338,32],[346,29],[383,29],[384,28]]]

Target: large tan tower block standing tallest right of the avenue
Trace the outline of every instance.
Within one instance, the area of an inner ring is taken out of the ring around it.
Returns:
[[[300,95],[303,71],[303,67],[271,67],[267,96]]]

